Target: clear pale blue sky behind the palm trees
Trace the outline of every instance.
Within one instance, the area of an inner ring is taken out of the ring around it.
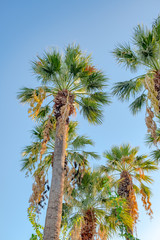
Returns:
[[[111,51],[116,43],[130,40],[137,24],[150,27],[159,13],[159,0],[0,2],[0,239],[29,240],[33,232],[26,212],[31,179],[26,179],[20,172],[20,159],[23,147],[30,144],[34,123],[28,118],[27,106],[20,105],[16,99],[21,87],[37,84],[30,62],[44,50],[52,47],[63,50],[68,43],[75,42],[92,53],[94,65],[109,77],[110,86],[116,81],[130,79],[130,72],[116,64]],[[90,126],[78,116],[79,132],[96,142],[94,150],[100,154],[112,145],[128,142],[140,146],[140,153],[149,153],[144,144],[144,114],[142,111],[136,117],[132,116],[128,103],[114,98],[112,105],[105,108],[102,126]],[[137,234],[141,240],[160,239],[159,172],[153,177],[152,220],[139,202]]]

